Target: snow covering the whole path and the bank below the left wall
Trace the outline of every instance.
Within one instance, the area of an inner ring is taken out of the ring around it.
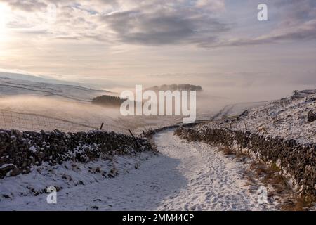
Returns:
[[[6,177],[0,183],[1,194],[12,200],[1,198],[0,210],[275,210],[273,205],[258,205],[257,195],[244,186],[244,165],[216,148],[187,143],[173,136],[173,130],[157,134],[154,141],[159,155],[142,153],[137,161],[124,158],[113,179],[88,172],[96,166],[107,171],[110,161],[74,168],[67,162],[49,171],[44,166],[31,174]],[[66,179],[60,178],[62,174]],[[79,180],[84,185],[76,186]],[[32,196],[29,190],[46,186],[62,188],[57,204],[46,203],[46,193]]]

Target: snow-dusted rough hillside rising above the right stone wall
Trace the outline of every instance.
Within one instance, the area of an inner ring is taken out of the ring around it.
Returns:
[[[292,98],[270,101],[251,108],[239,120],[225,118],[201,125],[201,128],[249,129],[254,133],[316,143],[316,122],[308,122],[308,112],[316,110],[316,89],[298,91]],[[239,115],[239,113],[235,114]]]

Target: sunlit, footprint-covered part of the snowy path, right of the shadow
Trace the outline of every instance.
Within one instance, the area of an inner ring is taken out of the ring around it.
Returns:
[[[242,176],[244,167],[205,143],[187,143],[172,131],[159,134],[159,151],[180,160],[177,171],[184,188],[162,201],[158,210],[268,210],[258,205]]]

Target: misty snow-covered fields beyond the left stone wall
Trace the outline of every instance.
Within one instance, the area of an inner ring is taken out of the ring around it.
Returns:
[[[124,117],[119,108],[91,103],[96,96],[118,94],[56,82],[0,72],[0,129],[76,132],[99,129],[104,123],[106,131],[128,134],[127,129],[141,132],[142,129],[169,126],[181,119],[173,116]]]

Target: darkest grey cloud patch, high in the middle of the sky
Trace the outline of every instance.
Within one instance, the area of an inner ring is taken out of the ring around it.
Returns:
[[[117,33],[119,41],[145,45],[213,41],[220,32],[229,30],[228,25],[193,9],[125,11],[101,20]]]

